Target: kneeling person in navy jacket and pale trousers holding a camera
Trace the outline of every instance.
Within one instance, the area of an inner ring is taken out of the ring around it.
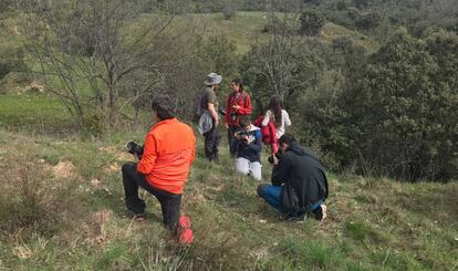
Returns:
[[[261,129],[251,124],[249,115],[241,115],[239,125],[239,129],[235,133],[237,138],[236,171],[261,180]]]

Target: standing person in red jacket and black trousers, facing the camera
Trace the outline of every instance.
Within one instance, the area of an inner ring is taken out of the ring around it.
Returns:
[[[232,92],[229,94],[226,102],[223,123],[228,129],[230,155],[231,157],[236,157],[237,139],[233,135],[239,127],[239,117],[241,115],[250,115],[252,107],[250,95],[244,91],[243,83],[240,79],[232,80],[230,82],[230,88]]]

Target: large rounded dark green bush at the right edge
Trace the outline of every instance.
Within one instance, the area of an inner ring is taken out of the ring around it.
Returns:
[[[438,33],[425,46],[400,30],[373,54],[340,101],[352,124],[343,129],[341,157],[402,179],[456,176],[458,127],[449,119],[458,118],[458,94],[450,91],[457,87],[457,41]]]

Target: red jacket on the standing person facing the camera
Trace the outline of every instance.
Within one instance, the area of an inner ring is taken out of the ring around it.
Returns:
[[[240,108],[236,110],[232,107],[233,105],[239,105]],[[236,119],[233,119],[231,115],[250,115],[252,107],[250,95],[248,95],[248,93],[246,93],[244,91],[241,93],[232,92],[229,94],[228,100],[226,102],[226,115],[223,118],[223,123],[229,124],[229,126],[239,126],[239,118],[236,117]]]

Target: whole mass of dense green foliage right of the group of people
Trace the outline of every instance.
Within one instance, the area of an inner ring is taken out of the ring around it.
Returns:
[[[399,30],[367,61],[365,51],[346,39],[332,48],[333,59],[323,60],[313,84],[318,91],[299,100],[306,116],[298,119],[305,132],[301,139],[318,147],[335,170],[454,178],[457,35],[440,31],[423,41]]]

